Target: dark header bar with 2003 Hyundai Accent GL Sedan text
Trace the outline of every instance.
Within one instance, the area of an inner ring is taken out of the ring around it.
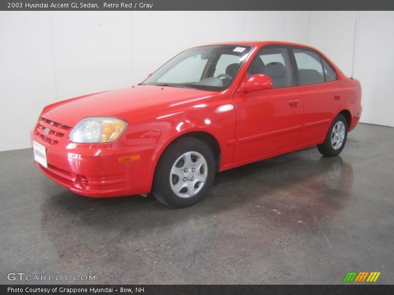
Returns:
[[[0,10],[394,10],[393,0],[1,0]]]

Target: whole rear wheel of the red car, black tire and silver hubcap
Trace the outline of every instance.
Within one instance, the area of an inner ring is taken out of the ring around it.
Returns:
[[[326,157],[337,156],[345,147],[347,136],[348,123],[345,116],[339,114],[329,126],[324,143],[318,145],[317,149]]]

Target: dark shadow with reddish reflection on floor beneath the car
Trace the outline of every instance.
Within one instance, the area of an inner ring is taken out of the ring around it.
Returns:
[[[339,156],[310,157],[308,153],[302,150],[219,173],[205,200],[179,210],[159,204],[152,196],[96,199],[62,189],[57,195],[45,197],[43,222],[104,231],[144,230],[181,222],[190,214],[209,216],[257,201],[268,206],[281,202],[283,196],[292,201],[298,197],[309,205],[319,200],[331,208],[341,207],[353,183],[351,165]],[[302,210],[302,203],[298,205]]]

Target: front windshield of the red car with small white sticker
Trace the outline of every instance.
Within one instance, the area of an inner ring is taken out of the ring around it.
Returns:
[[[222,91],[249,52],[249,46],[241,45],[195,47],[170,59],[141,85]]]

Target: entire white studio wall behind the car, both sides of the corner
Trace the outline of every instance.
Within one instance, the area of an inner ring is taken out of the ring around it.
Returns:
[[[236,40],[311,44],[361,80],[363,122],[394,126],[390,58],[394,12],[78,11],[0,12],[0,150],[30,147],[42,108],[83,94],[128,87],[184,49]],[[335,21],[333,21],[335,20]],[[373,56],[365,60],[365,57]],[[17,130],[17,132],[15,132]]]

